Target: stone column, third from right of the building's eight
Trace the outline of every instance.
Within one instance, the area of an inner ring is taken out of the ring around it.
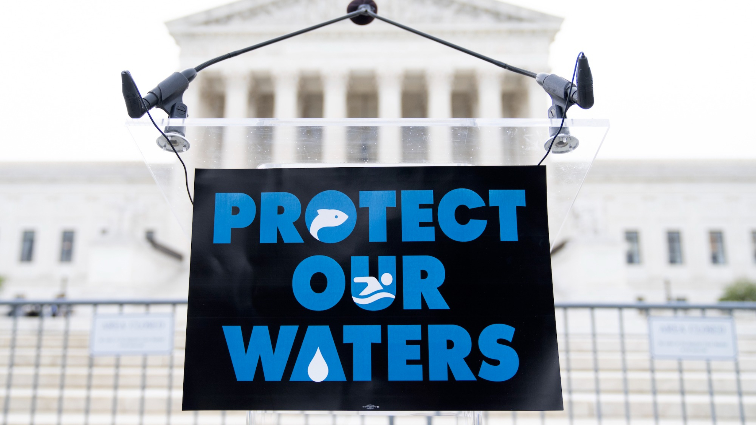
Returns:
[[[428,85],[428,118],[451,118],[451,84],[454,72],[445,69],[429,70],[426,73]],[[431,127],[429,129],[428,160],[431,163],[451,163],[451,128]]]

